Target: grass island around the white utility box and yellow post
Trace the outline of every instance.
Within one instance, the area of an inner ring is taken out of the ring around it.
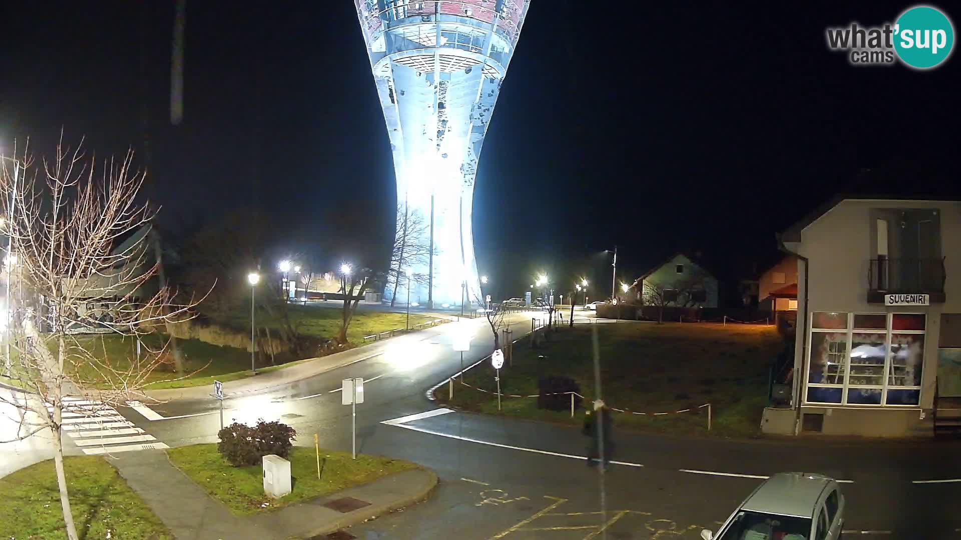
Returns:
[[[198,444],[167,451],[170,460],[186,476],[226,504],[236,514],[253,514],[300,503],[330,493],[380,479],[393,473],[416,469],[417,465],[400,459],[374,455],[357,455],[320,451],[321,479],[317,479],[314,449],[294,447],[290,450],[290,475],[293,490],[275,500],[263,493],[262,467],[233,467],[217,453],[216,444]],[[264,503],[268,505],[264,506]]]

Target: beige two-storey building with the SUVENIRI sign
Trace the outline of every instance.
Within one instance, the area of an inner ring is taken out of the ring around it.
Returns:
[[[778,236],[798,332],[790,405],[762,429],[930,434],[936,381],[961,394],[951,362],[939,372],[961,348],[961,203],[838,196]]]

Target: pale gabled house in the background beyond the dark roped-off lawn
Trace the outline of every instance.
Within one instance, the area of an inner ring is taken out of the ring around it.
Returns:
[[[718,307],[718,281],[702,265],[678,253],[623,287],[618,300],[657,307]]]

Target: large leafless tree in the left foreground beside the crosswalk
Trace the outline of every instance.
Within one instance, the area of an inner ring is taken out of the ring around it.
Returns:
[[[15,353],[9,376],[23,391],[12,398],[0,396],[17,409],[18,418],[13,420],[18,429],[0,442],[50,430],[64,528],[69,540],[78,540],[63,471],[62,417],[64,409],[87,415],[98,411],[94,405],[70,405],[66,398],[83,396],[104,406],[135,399],[137,389],[166,360],[164,347],[145,361],[111,361],[94,354],[89,339],[66,329],[80,323],[139,335],[189,318],[193,304],[171,306],[171,295],[162,284],[156,295],[136,298],[157,264],[149,261],[146,234],[154,212],[138,202],[144,174],[132,170],[132,153],[121,161],[104,160],[99,168],[80,148],[71,151],[62,143],[41,167],[35,167],[29,149],[21,156],[26,174],[19,182],[12,178],[6,160],[0,175],[5,233],[11,243],[7,263],[14,265],[16,280],[25,291],[24,302],[8,321]],[[95,320],[86,310],[90,302],[110,306],[112,319]],[[47,330],[43,334],[41,326]]]

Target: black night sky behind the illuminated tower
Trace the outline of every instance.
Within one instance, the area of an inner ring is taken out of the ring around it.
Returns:
[[[61,128],[98,155],[132,146],[168,228],[258,209],[278,253],[385,261],[393,168],[353,2],[189,0],[176,127],[172,0],[18,4],[2,148],[46,151]],[[958,190],[959,60],[856,68],[825,46],[825,26],[909,4],[588,4],[531,2],[490,124],[474,229],[501,294],[540,269],[609,282],[615,244],[625,279],[677,250],[736,274],[832,193]]]

